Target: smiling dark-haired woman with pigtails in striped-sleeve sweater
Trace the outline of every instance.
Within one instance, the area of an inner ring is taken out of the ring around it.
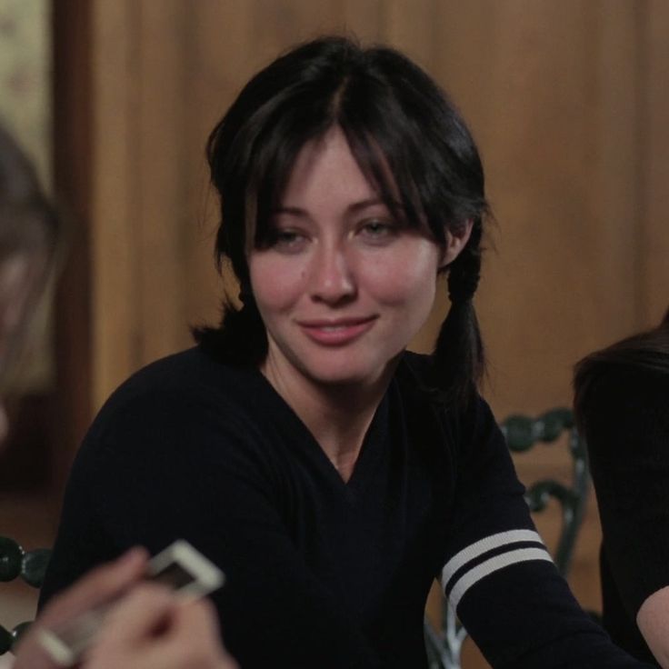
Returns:
[[[434,577],[495,667],[643,666],[558,574],[477,392],[488,206],[448,97],[393,49],[320,38],[245,85],[208,158],[239,304],[98,414],[43,601],[184,537],[227,575],[244,669],[424,667]],[[444,274],[434,354],[410,354]]]

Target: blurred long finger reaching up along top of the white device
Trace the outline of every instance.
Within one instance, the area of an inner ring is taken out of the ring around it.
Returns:
[[[145,574],[147,561],[145,549],[135,547],[115,562],[96,567],[55,597],[38,617],[37,623],[40,626],[62,624],[77,614],[109,602]]]

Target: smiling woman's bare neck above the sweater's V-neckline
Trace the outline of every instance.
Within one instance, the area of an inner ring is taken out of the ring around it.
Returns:
[[[374,384],[316,384],[302,375],[281,374],[265,361],[261,372],[313,434],[330,462],[348,481],[394,365]]]

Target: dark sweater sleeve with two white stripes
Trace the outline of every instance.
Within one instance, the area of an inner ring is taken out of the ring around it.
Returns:
[[[493,414],[461,421],[454,525],[442,585],[488,662],[504,669],[646,666],[611,643],[577,604],[524,502]]]

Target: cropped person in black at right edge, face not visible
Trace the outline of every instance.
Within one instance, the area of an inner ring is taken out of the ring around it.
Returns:
[[[629,653],[669,667],[669,312],[585,357],[574,390],[604,534],[604,626]]]

